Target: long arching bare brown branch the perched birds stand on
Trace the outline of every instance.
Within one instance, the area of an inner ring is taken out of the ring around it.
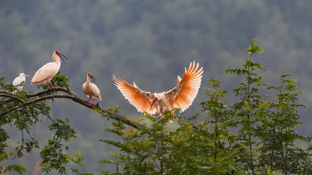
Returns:
[[[39,97],[39,98],[36,98],[36,99],[33,99],[33,100],[30,100],[30,101],[26,101],[18,106],[15,106],[11,109],[7,109],[6,111],[0,113],[0,118],[4,115],[6,115],[7,113],[10,113],[12,111],[14,111],[15,109],[18,109],[18,108],[21,108],[23,106],[27,106],[27,105],[30,105],[32,103],[36,103],[36,102],[39,102],[39,101],[42,101],[42,100],[47,100],[47,99],[50,99],[50,98],[68,98],[68,99],[71,99],[73,100],[74,102],[76,103],[79,103],[83,106],[86,106],[90,109],[93,109],[93,104],[89,103],[87,105],[85,105],[85,100],[80,98],[79,96],[77,96],[74,92],[72,92],[71,90],[69,90],[68,88],[64,88],[64,87],[56,87],[55,90],[54,89],[46,89],[46,90],[43,90],[43,91],[39,91],[39,92],[36,92],[36,93],[32,93],[32,94],[27,94],[25,96],[27,96],[27,98],[30,98],[30,97],[37,97],[37,96],[40,96],[40,95],[44,95],[44,94],[47,94],[47,93],[50,93],[50,92],[56,92],[56,91],[62,91],[62,92],[66,92],[68,94],[52,94],[52,95],[47,95],[47,96],[43,96],[43,97]],[[12,96],[13,97],[13,96]],[[17,97],[15,97],[17,98]],[[19,99],[19,98],[17,98]],[[21,100],[21,99],[19,99]],[[141,130],[140,128],[144,127],[146,128],[145,126],[137,123],[137,122],[134,122],[134,121],[130,121],[129,119],[123,117],[123,116],[119,116],[118,114],[115,114],[111,111],[108,111],[106,109],[103,109],[101,108],[100,106],[95,106],[95,108],[102,112],[103,114],[105,114],[105,116],[111,118],[111,119],[114,119],[114,120],[117,120],[117,121],[120,121],[120,122],[123,122],[124,124],[127,124],[129,126],[132,126],[138,130]]]

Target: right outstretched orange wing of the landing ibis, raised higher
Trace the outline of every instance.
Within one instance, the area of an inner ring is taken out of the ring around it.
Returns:
[[[199,64],[197,63],[195,67],[195,61],[193,61],[193,64],[191,62],[188,70],[184,68],[182,79],[178,76],[177,86],[166,92],[166,97],[174,104],[172,106],[182,108],[181,111],[186,110],[193,103],[198,93],[202,81],[201,74],[203,73],[202,67],[198,69],[198,66]]]

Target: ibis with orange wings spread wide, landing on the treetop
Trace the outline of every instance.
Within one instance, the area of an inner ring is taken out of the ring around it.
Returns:
[[[124,79],[121,80],[119,76],[117,78],[115,74],[113,74],[113,80],[123,96],[139,112],[152,113],[152,116],[160,115],[163,117],[163,113],[166,110],[170,111],[178,107],[182,108],[181,111],[184,111],[193,103],[202,81],[201,74],[203,70],[202,68],[198,69],[198,66],[199,64],[197,63],[195,67],[195,61],[193,61],[193,64],[191,62],[188,69],[184,68],[183,77],[180,78],[178,76],[177,86],[170,91],[162,93],[151,94],[150,92],[144,92],[134,82],[134,86],[131,86]],[[159,114],[156,114],[156,112]],[[177,117],[175,117],[175,120],[177,120]]]

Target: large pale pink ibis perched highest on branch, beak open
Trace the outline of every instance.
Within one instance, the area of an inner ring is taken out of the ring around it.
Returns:
[[[46,85],[48,86],[48,89],[50,89],[49,84],[51,84],[51,87],[55,89],[51,83],[51,79],[56,75],[56,73],[60,70],[61,67],[61,59],[64,61],[64,59],[61,57],[66,58],[63,54],[61,54],[59,51],[54,51],[52,54],[52,60],[53,62],[47,63],[44,66],[42,66],[39,70],[37,70],[36,74],[32,78],[31,84],[46,82]],[[67,59],[67,58],[66,58]],[[68,60],[68,59],[67,59]],[[68,60],[69,62],[69,60]],[[65,64],[65,61],[64,61]]]

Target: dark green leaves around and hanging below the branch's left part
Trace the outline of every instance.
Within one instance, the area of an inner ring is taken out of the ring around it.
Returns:
[[[55,121],[50,117],[51,108],[49,106],[49,100],[42,100],[35,103],[31,103],[29,105],[23,106],[19,109],[16,109],[10,113],[4,114],[7,109],[12,109],[15,106],[21,104],[19,100],[8,100],[9,96],[17,97],[23,102],[28,102],[30,100],[36,99],[38,97],[47,96],[51,94],[55,94],[57,92],[50,92],[47,94],[43,94],[37,97],[30,98],[27,94],[31,94],[33,92],[20,91],[15,95],[12,95],[7,92],[12,92],[17,89],[17,86],[12,84],[6,84],[6,77],[0,77],[0,86],[4,90],[0,93],[0,153],[4,154],[4,149],[7,147],[7,139],[8,132],[3,128],[5,125],[11,126],[12,130],[21,131],[22,139],[17,143],[15,147],[16,155],[10,159],[21,158],[23,156],[23,152],[31,153],[34,148],[39,149],[40,146],[37,140],[33,137],[33,132],[30,130],[34,130],[34,126],[39,122],[39,117],[45,116],[48,120],[51,120],[51,125],[49,126],[49,130],[56,130],[55,135],[52,139],[47,141],[47,145],[40,152],[40,157],[42,158],[42,171],[49,172],[51,169],[56,169],[59,173],[65,173],[66,163],[68,163],[66,154],[63,151],[68,150],[69,148],[62,144],[62,141],[67,142],[70,138],[76,138],[76,131],[71,129],[71,126],[68,124],[70,119],[66,118],[65,121],[61,119],[56,119]],[[54,78],[51,79],[52,84],[56,84],[57,87],[68,87],[66,82],[69,79],[62,75],[60,72],[56,74]],[[23,84],[22,82],[21,84]],[[37,85],[37,89],[47,89],[46,84]],[[50,99],[53,102],[53,99]],[[29,138],[29,139],[26,139]],[[6,157],[8,158],[8,156]]]

